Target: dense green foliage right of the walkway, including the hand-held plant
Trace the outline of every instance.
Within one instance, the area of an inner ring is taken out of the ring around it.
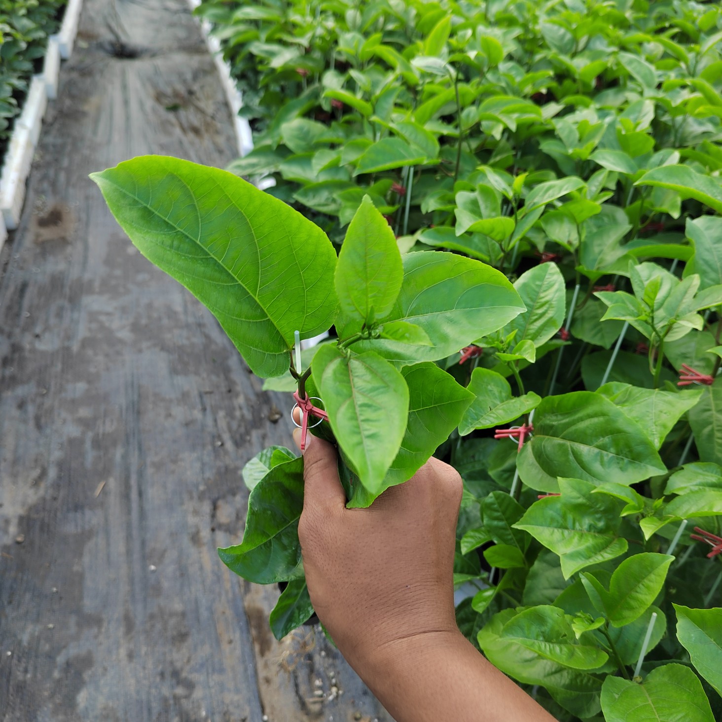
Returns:
[[[266,388],[323,399],[350,506],[458,469],[461,630],[560,721],[722,718],[718,5],[199,12],[256,131],[230,170],[276,186],[123,163],[95,180],[131,239]],[[332,324],[300,374],[293,332]],[[288,582],[279,637],[313,613],[301,469],[245,467],[221,550]]]

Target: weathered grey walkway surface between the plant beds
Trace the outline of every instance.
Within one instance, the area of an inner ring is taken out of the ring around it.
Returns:
[[[316,632],[276,643],[277,592],[219,562],[290,404],[87,178],[149,152],[222,167],[231,127],[183,0],[86,0],[0,256],[3,722],[388,720]]]

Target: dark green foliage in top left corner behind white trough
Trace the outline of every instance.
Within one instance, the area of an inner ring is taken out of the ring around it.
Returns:
[[[66,0],[0,0],[0,159],[18,100],[40,70],[48,35],[58,28]]]

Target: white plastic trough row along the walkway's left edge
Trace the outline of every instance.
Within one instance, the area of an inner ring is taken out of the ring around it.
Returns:
[[[54,100],[58,95],[60,59],[69,58],[73,51],[81,9],[82,0],[69,0],[60,31],[48,38],[43,72],[32,78],[22,113],[15,120],[0,171],[0,248],[5,243],[7,232],[17,228],[20,222],[25,181],[40,137],[45,109],[48,99]]]

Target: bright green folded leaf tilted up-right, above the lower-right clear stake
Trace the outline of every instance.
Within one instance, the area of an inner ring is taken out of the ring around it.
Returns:
[[[596,592],[598,601],[614,627],[624,627],[641,617],[664,586],[669,565],[674,557],[669,554],[643,552],[625,559],[609,580],[606,591],[596,578],[583,573],[582,581],[592,601]],[[591,591],[592,590],[592,591]]]

